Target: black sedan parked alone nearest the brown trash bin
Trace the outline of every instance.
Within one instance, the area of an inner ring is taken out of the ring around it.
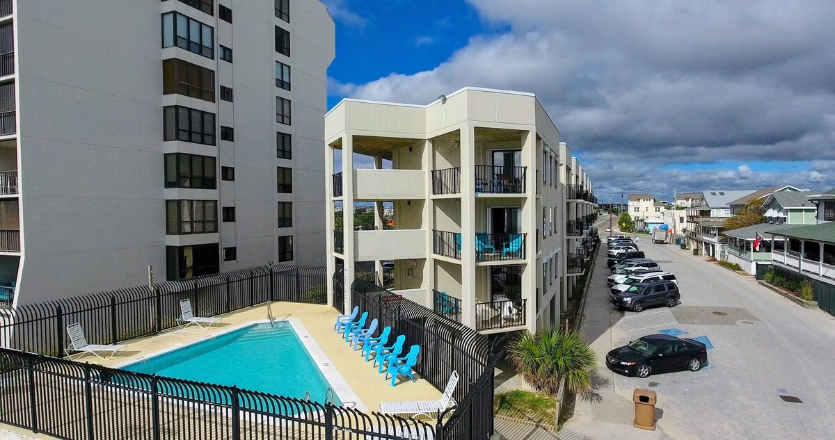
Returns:
[[[705,344],[665,334],[645,336],[606,355],[606,367],[615,373],[646,378],[652,373],[690,370],[707,365]]]

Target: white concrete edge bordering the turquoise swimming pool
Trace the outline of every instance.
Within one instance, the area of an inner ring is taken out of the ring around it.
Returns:
[[[296,337],[301,342],[302,347],[305,348],[308,356],[311,357],[312,362],[316,364],[316,368],[319,368],[319,373],[321,373],[321,375],[325,378],[327,385],[333,389],[334,393],[337,394],[337,398],[339,398],[340,402],[342,402],[342,406],[351,408],[349,404],[352,403],[352,408],[362,412],[367,412],[367,407],[365,406],[365,403],[362,403],[362,400],[360,400],[359,396],[357,396],[357,393],[355,393],[353,388],[351,388],[351,385],[349,385],[345,378],[342,377],[342,373],[339,373],[339,370],[333,365],[333,363],[331,363],[331,359],[328,358],[327,354],[319,347],[319,344],[316,343],[316,339],[313,338],[311,333],[307,331],[307,328],[303,323],[301,323],[301,320],[299,318],[291,317],[283,319],[282,321],[286,321],[290,324],[291,328],[293,328],[293,332],[296,333]],[[214,338],[219,338],[221,336],[225,336],[226,334],[237,332],[244,328],[249,328],[258,324],[265,323],[270,323],[270,320],[261,319],[256,321],[250,321],[248,323],[236,324],[234,326],[231,326],[230,328],[225,328],[219,332],[206,334],[200,338],[195,339],[190,343],[176,343],[170,347],[159,349],[152,353],[139,356],[138,358],[129,359],[122,363],[116,363],[110,368],[125,368],[129,365],[134,365],[135,363],[142,363],[151,358],[156,358],[167,353],[175,352],[182,348],[188,348],[198,343],[204,343],[205,341],[210,341]],[[177,331],[179,332],[182,330]]]

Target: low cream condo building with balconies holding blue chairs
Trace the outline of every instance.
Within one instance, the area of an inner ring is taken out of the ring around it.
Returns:
[[[328,273],[393,266],[394,293],[483,333],[558,323],[596,200],[533,94],[344,99],[326,114],[325,146]],[[375,208],[376,228],[355,230],[357,206]],[[350,308],[344,288],[329,286],[329,302]]]

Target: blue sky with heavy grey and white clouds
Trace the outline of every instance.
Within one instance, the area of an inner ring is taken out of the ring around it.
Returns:
[[[832,0],[324,2],[328,107],[533,92],[601,203],[835,188]]]

